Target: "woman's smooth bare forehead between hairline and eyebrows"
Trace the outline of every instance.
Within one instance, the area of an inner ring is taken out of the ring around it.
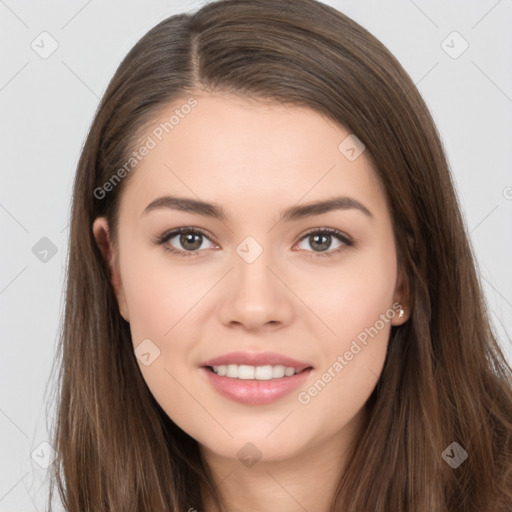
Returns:
[[[183,108],[192,97],[195,106]],[[177,193],[221,203],[228,213],[233,205],[258,214],[262,202],[282,209],[348,195],[385,208],[370,158],[343,152],[350,137],[307,107],[194,94],[169,104],[143,134],[150,149],[139,155],[122,203],[141,203],[142,211]]]

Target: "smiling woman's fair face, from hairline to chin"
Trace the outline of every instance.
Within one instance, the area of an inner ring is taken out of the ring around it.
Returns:
[[[135,148],[114,251],[94,225],[142,375],[212,456],[345,446],[407,318],[383,189],[313,110],[194,98]]]

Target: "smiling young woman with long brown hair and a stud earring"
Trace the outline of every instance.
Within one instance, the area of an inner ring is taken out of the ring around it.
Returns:
[[[509,511],[511,368],[432,118],[314,0],[146,34],[79,162],[66,510]]]

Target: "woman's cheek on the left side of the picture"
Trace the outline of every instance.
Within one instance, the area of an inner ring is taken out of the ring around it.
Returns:
[[[208,287],[204,279],[191,279],[193,271],[158,255],[160,250],[138,249],[127,242],[124,254],[128,256],[121,266],[123,287],[142,376],[169,417],[186,427],[200,413],[187,392],[187,362],[197,340],[194,306]],[[144,350],[139,348],[143,346]],[[149,357],[140,357],[147,353]],[[200,397],[197,390],[194,396]]]

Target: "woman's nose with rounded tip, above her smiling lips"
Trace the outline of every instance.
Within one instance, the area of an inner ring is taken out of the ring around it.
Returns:
[[[281,266],[271,261],[270,251],[263,250],[252,262],[235,254],[233,265],[224,283],[222,322],[250,331],[289,325],[294,315],[293,293]]]

